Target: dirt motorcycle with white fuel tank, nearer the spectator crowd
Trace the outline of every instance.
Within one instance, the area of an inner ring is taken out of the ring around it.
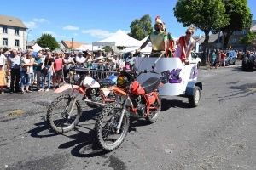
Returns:
[[[83,101],[91,108],[102,107],[115,102],[116,96],[109,88],[117,82],[116,76],[110,76],[102,80],[90,77],[89,71],[73,66],[73,81],[55,90],[61,93],[72,89],[71,94],[63,94],[54,99],[47,110],[46,119],[56,133],[67,133],[79,123],[81,116],[81,104],[79,94],[83,94]],[[55,118],[55,115],[60,116]]]

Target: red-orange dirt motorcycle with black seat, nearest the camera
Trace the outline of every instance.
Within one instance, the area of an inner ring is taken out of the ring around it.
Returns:
[[[163,83],[157,77],[148,78],[142,85],[137,82],[137,77],[147,72],[159,74],[154,70],[120,71],[117,86],[111,87],[118,94],[117,102],[104,107],[96,120],[96,139],[103,150],[112,151],[122,144],[130,126],[130,112],[146,118],[148,123],[159,117],[158,88]]]

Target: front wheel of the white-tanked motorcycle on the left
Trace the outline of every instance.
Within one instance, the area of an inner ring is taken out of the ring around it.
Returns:
[[[56,133],[67,133],[73,130],[79,123],[81,105],[79,100],[76,100],[73,111],[71,111],[74,99],[75,98],[69,94],[64,94],[56,98],[49,105],[46,119],[49,127],[51,127]],[[70,114],[72,115],[68,117]]]

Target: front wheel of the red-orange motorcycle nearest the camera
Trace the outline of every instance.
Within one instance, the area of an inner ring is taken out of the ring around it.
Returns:
[[[130,126],[129,112],[125,111],[119,133],[117,126],[122,112],[121,104],[110,104],[102,109],[96,120],[96,140],[102,150],[116,150],[125,140]]]

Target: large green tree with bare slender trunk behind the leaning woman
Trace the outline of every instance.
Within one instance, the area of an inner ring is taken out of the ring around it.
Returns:
[[[229,15],[225,14],[221,0],[177,0],[173,8],[177,22],[183,26],[195,25],[205,33],[202,62],[206,64],[209,33],[229,23]]]

